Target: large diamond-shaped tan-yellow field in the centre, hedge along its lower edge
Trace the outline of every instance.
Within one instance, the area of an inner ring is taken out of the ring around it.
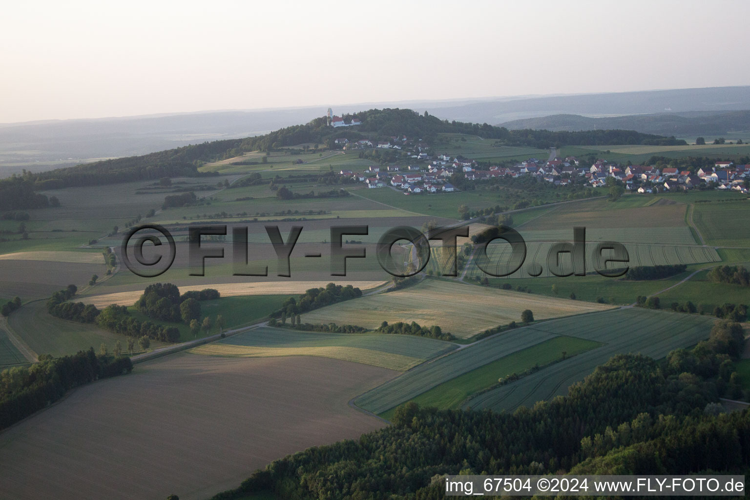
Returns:
[[[456,281],[426,280],[398,292],[382,293],[341,302],[302,315],[302,322],[358,325],[378,328],[383,321],[438,325],[456,337],[468,338],[487,328],[520,322],[529,309],[534,319],[611,309],[612,306],[572,301]]]

